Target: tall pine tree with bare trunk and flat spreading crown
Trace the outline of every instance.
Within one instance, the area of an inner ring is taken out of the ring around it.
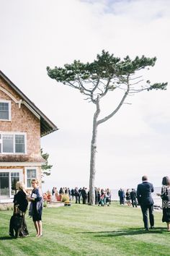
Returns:
[[[87,101],[96,107],[93,117],[93,131],[91,138],[91,158],[89,176],[89,204],[94,205],[94,180],[96,174],[96,153],[97,153],[97,129],[99,124],[104,123],[125,103],[129,95],[135,95],[144,90],[166,90],[167,82],[156,82],[151,84],[149,80],[143,78],[143,69],[149,69],[156,63],[156,57],[146,56],[124,59],[102,51],[93,62],[82,63],[79,60],[72,64],[65,64],[64,67],[47,67],[48,76],[57,82],[68,85],[78,90],[84,95]],[[115,109],[111,109],[107,116],[99,118],[101,113],[101,102],[107,93],[119,91],[118,103]],[[64,98],[64,96],[63,96]],[[79,150],[79,149],[78,149]]]

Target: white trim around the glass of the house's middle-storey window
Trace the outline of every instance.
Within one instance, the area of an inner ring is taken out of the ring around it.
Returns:
[[[1,135],[24,135],[24,153],[15,153],[15,140],[13,141],[13,148],[14,148],[14,152],[12,153],[0,153],[0,155],[27,155],[27,133],[26,132],[1,132]],[[1,151],[2,151],[2,144],[3,144],[3,140],[2,140],[2,136],[0,139],[0,143],[1,143]]]

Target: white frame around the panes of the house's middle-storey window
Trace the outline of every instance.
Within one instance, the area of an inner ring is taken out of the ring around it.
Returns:
[[[3,152],[3,135],[13,135],[13,152],[11,153],[4,153]],[[24,153],[16,153],[16,142],[15,142],[15,135],[24,135]],[[0,147],[1,153],[0,155],[27,155],[27,133],[26,132],[1,132],[0,131]]]

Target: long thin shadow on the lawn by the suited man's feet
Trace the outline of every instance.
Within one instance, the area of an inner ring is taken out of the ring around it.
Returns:
[[[158,227],[155,229],[150,229],[146,231],[144,229],[120,229],[117,231],[97,231],[97,232],[81,232],[81,234],[96,234],[96,236],[135,236],[139,234],[162,234],[165,233],[166,229],[162,227]]]

